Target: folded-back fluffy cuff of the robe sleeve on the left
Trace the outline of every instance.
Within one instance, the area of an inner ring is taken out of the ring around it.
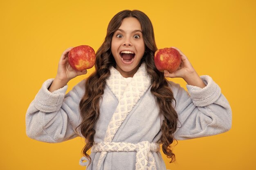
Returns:
[[[35,107],[42,112],[54,112],[61,108],[67,85],[52,93],[48,91],[54,79],[47,79],[35,97]]]

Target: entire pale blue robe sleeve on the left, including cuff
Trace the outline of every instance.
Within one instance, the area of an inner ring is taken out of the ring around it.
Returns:
[[[75,128],[79,125],[79,102],[84,95],[85,80],[67,93],[67,85],[52,93],[48,91],[53,79],[43,83],[26,113],[26,134],[28,137],[59,143],[81,136]]]

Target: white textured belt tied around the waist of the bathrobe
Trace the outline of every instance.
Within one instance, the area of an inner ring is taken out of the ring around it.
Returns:
[[[148,141],[142,141],[137,144],[126,142],[100,142],[94,144],[91,148],[91,152],[129,152],[135,151],[136,153],[136,170],[156,170],[155,158],[152,152],[158,152],[160,145],[158,143],[149,143]],[[80,159],[81,166],[87,166],[83,161],[87,160],[85,157]]]

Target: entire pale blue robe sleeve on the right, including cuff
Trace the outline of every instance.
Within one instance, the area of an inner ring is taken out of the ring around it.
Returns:
[[[231,128],[232,112],[229,102],[220,87],[208,75],[200,78],[207,85],[204,88],[186,85],[188,92],[179,84],[170,82],[178,115],[177,140],[217,135]]]

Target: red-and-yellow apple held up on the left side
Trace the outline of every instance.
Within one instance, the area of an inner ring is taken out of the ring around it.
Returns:
[[[76,71],[92,68],[95,63],[95,51],[88,45],[76,46],[67,55],[70,66]]]

